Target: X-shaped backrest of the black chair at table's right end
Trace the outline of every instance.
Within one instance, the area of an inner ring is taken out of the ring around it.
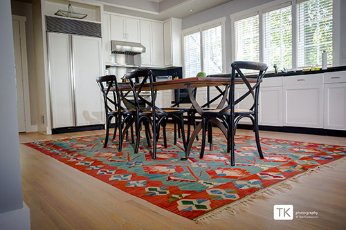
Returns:
[[[248,95],[252,95],[253,97],[253,105],[251,106],[250,110],[253,110],[254,108],[257,108],[255,106],[257,104],[258,96],[260,93],[260,84],[262,82],[262,78],[264,77],[264,74],[266,73],[266,70],[268,66],[263,63],[259,62],[253,62],[253,61],[234,61],[232,64],[232,77],[235,79],[235,77],[242,77],[244,83],[246,84],[248,91],[244,93],[241,97],[239,97],[237,100],[235,100],[235,105],[239,102],[242,102]],[[248,83],[248,79],[244,76],[242,73],[242,69],[246,70],[258,70],[259,73],[257,74],[257,82],[254,86],[251,86],[250,83]]]

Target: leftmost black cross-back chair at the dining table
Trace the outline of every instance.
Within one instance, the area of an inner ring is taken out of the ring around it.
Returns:
[[[125,124],[132,124],[133,121],[133,112],[127,110],[120,104],[120,94],[118,88],[118,82],[115,75],[107,75],[102,77],[96,77],[96,82],[98,82],[98,86],[100,87],[104,99],[104,108],[106,114],[106,137],[104,140],[104,148],[107,148],[108,140],[109,140],[109,128],[111,126],[111,120],[115,119],[115,127],[113,139],[116,137],[116,131],[119,130],[119,148],[122,149],[122,128]],[[111,88],[115,88],[116,90],[111,90]],[[112,95],[113,98],[109,97]],[[131,126],[131,140],[134,143],[134,134],[133,128]]]

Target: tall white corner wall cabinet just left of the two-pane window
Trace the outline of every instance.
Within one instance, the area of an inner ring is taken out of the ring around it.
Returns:
[[[165,66],[181,66],[181,19],[163,22],[163,46]]]

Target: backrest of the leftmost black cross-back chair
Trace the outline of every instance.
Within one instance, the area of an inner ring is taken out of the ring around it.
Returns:
[[[103,95],[106,114],[111,111],[127,110],[126,108],[122,108],[120,104],[118,82],[115,75],[96,77],[96,82],[98,82]],[[109,97],[110,92],[113,98]]]

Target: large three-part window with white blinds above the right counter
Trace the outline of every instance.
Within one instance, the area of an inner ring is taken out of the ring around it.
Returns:
[[[333,64],[333,0],[275,0],[230,15],[232,61],[260,61],[268,72]]]

